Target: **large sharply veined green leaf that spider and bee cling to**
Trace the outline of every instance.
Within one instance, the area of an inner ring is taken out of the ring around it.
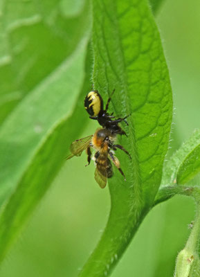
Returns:
[[[94,88],[117,116],[131,114],[118,150],[125,182],[109,180],[111,212],[80,276],[108,276],[125,251],[161,183],[172,120],[172,93],[161,39],[147,1],[93,1]],[[110,109],[111,111],[111,109]]]

